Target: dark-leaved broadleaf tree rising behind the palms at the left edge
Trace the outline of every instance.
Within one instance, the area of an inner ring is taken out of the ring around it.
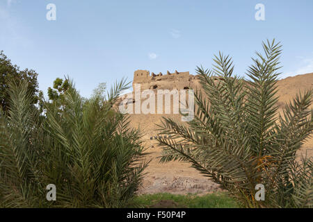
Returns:
[[[17,65],[13,65],[3,51],[0,51],[0,107],[6,111],[8,110],[10,101],[10,83],[19,83],[25,80],[29,83],[27,91],[31,94],[29,104],[33,105],[38,102],[38,74],[32,69],[19,70]]]

